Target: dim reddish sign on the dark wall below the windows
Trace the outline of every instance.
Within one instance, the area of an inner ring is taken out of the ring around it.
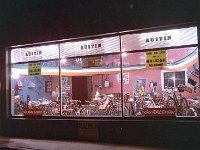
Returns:
[[[80,121],[78,122],[79,139],[97,140],[99,137],[98,122],[95,121]]]

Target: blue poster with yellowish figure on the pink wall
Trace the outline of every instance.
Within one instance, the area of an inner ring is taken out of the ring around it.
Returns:
[[[146,79],[136,79],[134,80],[134,94],[145,94]]]

